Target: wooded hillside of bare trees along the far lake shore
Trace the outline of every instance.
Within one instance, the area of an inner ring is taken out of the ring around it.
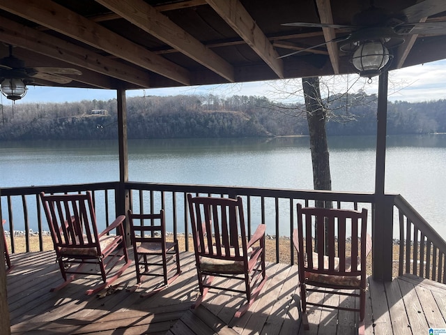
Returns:
[[[346,99],[348,98],[348,103]],[[359,100],[360,103],[355,103]],[[374,135],[376,96],[331,99],[328,135]],[[259,96],[146,96],[128,98],[129,138],[307,135],[301,105]],[[117,138],[116,100],[1,106],[0,140]],[[446,101],[388,105],[389,134],[446,132]]]

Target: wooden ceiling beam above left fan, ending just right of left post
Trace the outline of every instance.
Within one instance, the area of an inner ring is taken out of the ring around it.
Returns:
[[[150,75],[145,70],[137,70],[127,64],[101,56],[84,47],[79,47],[36,29],[25,27],[4,17],[0,20],[0,40],[3,43],[22,47],[53,59],[82,66],[82,68],[102,73],[102,75],[130,82],[141,88],[150,87]]]

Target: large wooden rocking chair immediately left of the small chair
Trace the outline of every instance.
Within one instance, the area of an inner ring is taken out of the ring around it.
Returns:
[[[99,234],[90,192],[72,195],[45,195],[42,192],[40,199],[64,280],[51,292],[65,287],[78,274],[101,276],[104,283],[86,291],[87,295],[92,295],[123,274],[132,262],[125,245],[124,215],[118,216]],[[116,235],[110,234],[113,230],[116,230]],[[120,262],[123,264],[112,274]],[[99,267],[100,273],[92,272],[91,265]],[[84,269],[86,266],[88,269]]]

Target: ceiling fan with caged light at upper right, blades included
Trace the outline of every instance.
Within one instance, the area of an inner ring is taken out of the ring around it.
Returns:
[[[388,49],[404,43],[407,35],[446,34],[446,21],[424,22],[425,17],[445,11],[446,1],[444,0],[424,0],[397,13],[376,7],[374,0],[371,0],[369,8],[354,15],[351,24],[285,23],[282,25],[342,29],[348,33],[278,58],[290,57],[327,43],[338,43],[341,51],[353,53],[351,61],[360,71],[360,75],[373,77],[379,75],[381,70],[390,64],[392,54]]]

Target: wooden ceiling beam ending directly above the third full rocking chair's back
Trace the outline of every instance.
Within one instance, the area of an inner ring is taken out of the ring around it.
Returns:
[[[187,57],[234,82],[231,64],[143,0],[95,0]]]

